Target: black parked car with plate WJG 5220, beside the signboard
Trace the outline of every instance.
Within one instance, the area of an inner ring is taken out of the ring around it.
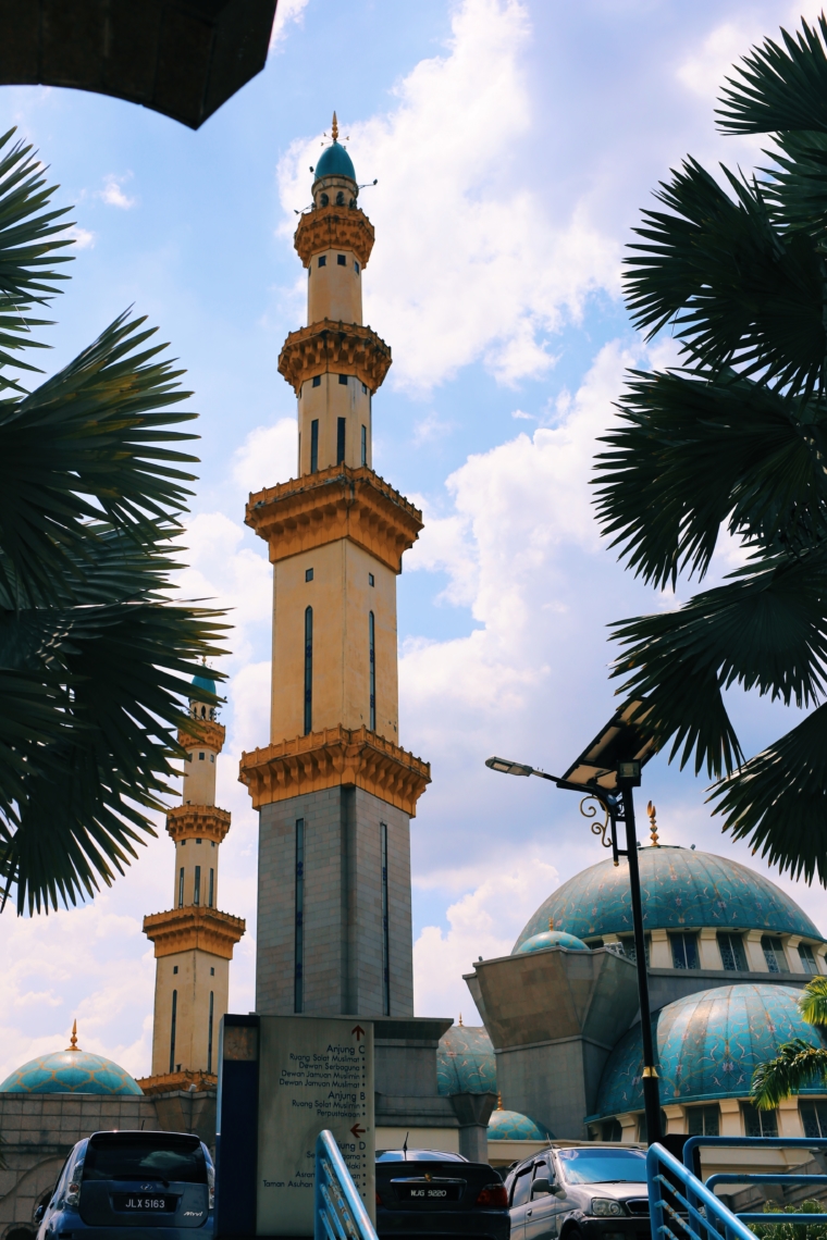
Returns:
[[[508,1240],[505,1184],[493,1167],[444,1149],[379,1149],[376,1230],[379,1240],[474,1236]]]

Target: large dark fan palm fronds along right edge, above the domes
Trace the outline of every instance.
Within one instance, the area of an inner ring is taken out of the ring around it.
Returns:
[[[670,760],[718,782],[724,830],[827,884],[827,22],[766,40],[728,79],[728,134],[767,134],[753,176],[694,159],[643,212],[626,299],[681,365],[635,371],[598,458],[611,546],[645,582],[703,579],[722,532],[743,568],[676,611],[613,626],[613,670]],[[724,689],[810,709],[745,758]]]

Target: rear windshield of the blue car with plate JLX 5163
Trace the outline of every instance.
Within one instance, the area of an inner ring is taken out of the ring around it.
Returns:
[[[206,1184],[207,1164],[197,1137],[112,1133],[89,1141],[83,1179],[154,1179]]]

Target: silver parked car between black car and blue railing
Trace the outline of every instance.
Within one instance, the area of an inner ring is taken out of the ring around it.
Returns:
[[[511,1240],[650,1240],[646,1154],[562,1146],[506,1178]]]

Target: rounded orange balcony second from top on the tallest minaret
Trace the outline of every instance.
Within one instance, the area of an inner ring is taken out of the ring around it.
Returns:
[[[371,327],[357,322],[320,319],[309,327],[291,331],[279,353],[279,374],[293,386],[316,374],[355,374],[371,392],[381,386],[391,367],[391,346]]]

